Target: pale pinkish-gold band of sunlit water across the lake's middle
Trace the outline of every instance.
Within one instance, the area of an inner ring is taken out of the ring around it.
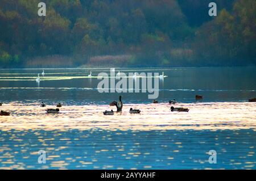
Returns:
[[[55,106],[47,106],[54,108]],[[131,115],[130,107],[139,108],[139,115]],[[108,105],[63,106],[59,114],[46,114],[46,108],[20,103],[1,107],[11,116],[0,117],[0,129],[255,129],[255,103],[180,103],[175,107],[189,108],[189,112],[171,112],[170,104],[125,104],[122,113],[104,116],[103,111],[113,109]]]

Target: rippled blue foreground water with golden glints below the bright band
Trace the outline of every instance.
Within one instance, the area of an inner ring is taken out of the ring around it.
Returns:
[[[5,148],[2,151],[1,167],[17,165],[16,167],[23,169],[255,169],[256,133],[250,129],[125,132],[73,129],[68,132],[28,130],[0,133],[1,141],[5,142],[1,146],[1,149]],[[66,148],[60,149],[61,146]],[[208,162],[207,153],[212,149],[217,151],[216,164]],[[49,158],[45,164],[37,162],[38,150],[47,151]],[[28,154],[33,152],[35,154]],[[3,155],[9,156],[3,158]],[[15,164],[3,163],[9,159],[13,159]]]

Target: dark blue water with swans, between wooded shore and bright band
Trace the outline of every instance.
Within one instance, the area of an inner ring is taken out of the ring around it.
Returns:
[[[64,102],[65,104],[108,104],[118,93],[99,93],[97,78],[79,78],[89,74],[110,74],[110,69],[46,69],[45,81],[35,79],[42,69],[1,69],[0,100],[3,102]],[[204,95],[203,102],[247,102],[256,97],[256,67],[248,68],[172,68],[172,69],[117,69],[123,73],[145,72],[167,75],[159,81],[159,102],[176,99],[195,102],[195,95]],[[7,77],[7,78],[6,78]],[[25,77],[25,78],[24,78]],[[76,77],[76,78],[74,78]],[[68,79],[71,78],[71,79]],[[5,81],[1,81],[5,80]],[[14,80],[14,81],[10,81]],[[115,82],[118,82],[115,81]],[[125,103],[151,103],[148,92],[122,93]]]

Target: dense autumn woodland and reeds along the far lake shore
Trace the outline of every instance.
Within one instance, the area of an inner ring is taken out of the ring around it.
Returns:
[[[256,65],[256,1],[0,1],[0,68]]]

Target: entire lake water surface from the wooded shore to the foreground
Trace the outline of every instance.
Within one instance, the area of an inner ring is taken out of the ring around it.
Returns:
[[[42,69],[1,69],[0,109],[11,115],[0,116],[0,169],[256,169],[255,67],[116,70],[164,71],[159,104],[148,92],[99,93],[97,75],[110,69],[44,69],[40,83]],[[119,95],[123,112],[104,116]],[[170,112],[171,99],[189,112]],[[63,107],[47,115],[41,102]]]

